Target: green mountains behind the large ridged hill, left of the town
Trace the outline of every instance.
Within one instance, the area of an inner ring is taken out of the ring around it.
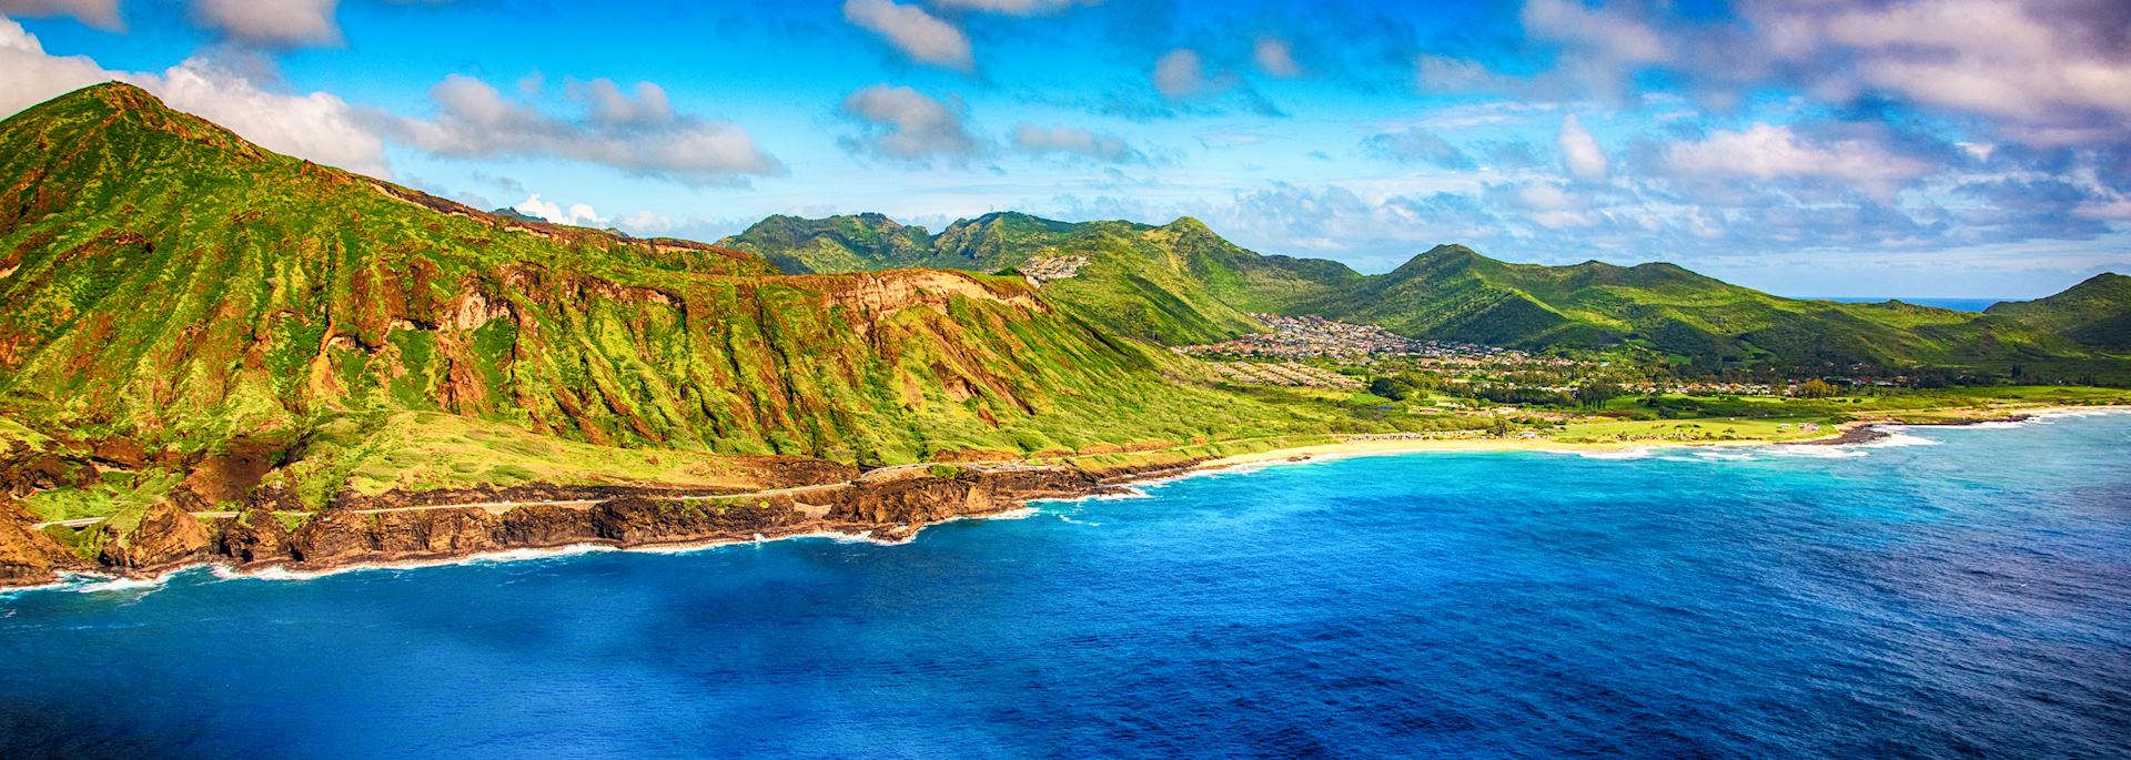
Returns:
[[[991,213],[938,236],[880,215],[769,217],[720,241],[788,272],[904,266],[995,272],[1085,258],[1076,275],[1042,285],[1044,300],[1110,332],[1159,343],[1215,343],[1257,330],[1251,311],[1283,311],[1360,275],[1336,262],[1245,251],[1198,219],[1066,224]]]

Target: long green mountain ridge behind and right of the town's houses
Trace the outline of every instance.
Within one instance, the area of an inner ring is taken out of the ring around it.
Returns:
[[[1455,341],[1637,343],[1720,362],[1971,366],[2091,353],[2035,324],[1973,313],[1777,298],[1673,264],[1504,264],[1458,245],[1304,309]]]

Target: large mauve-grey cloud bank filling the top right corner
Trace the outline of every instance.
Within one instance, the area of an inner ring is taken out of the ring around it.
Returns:
[[[2041,147],[2127,143],[2131,6],[2120,0],[1769,0],[1703,19],[1669,4],[1528,0],[1524,34],[1553,66],[1504,75],[1468,57],[1419,55],[1430,92],[1634,98],[1662,72],[1703,104],[1764,87],[1835,104],[1899,104],[1982,117]]]

